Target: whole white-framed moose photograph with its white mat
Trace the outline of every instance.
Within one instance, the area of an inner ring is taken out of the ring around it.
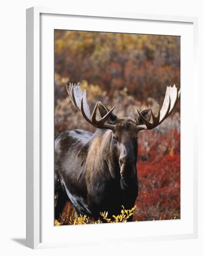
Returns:
[[[27,246],[196,238],[197,19],[26,17]]]

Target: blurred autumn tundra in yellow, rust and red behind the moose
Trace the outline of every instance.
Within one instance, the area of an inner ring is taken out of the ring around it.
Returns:
[[[72,105],[65,85],[81,82],[90,109],[97,101],[134,119],[163,103],[166,87],[180,88],[180,37],[54,31],[55,135],[67,129],[95,131]],[[138,136],[138,221],[180,218],[180,101],[160,126]],[[65,214],[73,215],[67,203]]]

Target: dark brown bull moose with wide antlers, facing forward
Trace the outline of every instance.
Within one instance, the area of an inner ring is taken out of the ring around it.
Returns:
[[[167,87],[161,110],[157,105],[157,115],[150,107],[138,111],[131,120],[118,118],[113,114],[115,106],[109,109],[100,101],[91,115],[86,91],[79,84],[66,89],[75,108],[97,129],[95,133],[65,131],[55,138],[55,219],[67,201],[76,213],[95,220],[102,211],[108,211],[109,216],[119,214],[121,205],[131,209],[138,196],[138,132],[161,124],[175,108],[180,91],[175,85]]]

